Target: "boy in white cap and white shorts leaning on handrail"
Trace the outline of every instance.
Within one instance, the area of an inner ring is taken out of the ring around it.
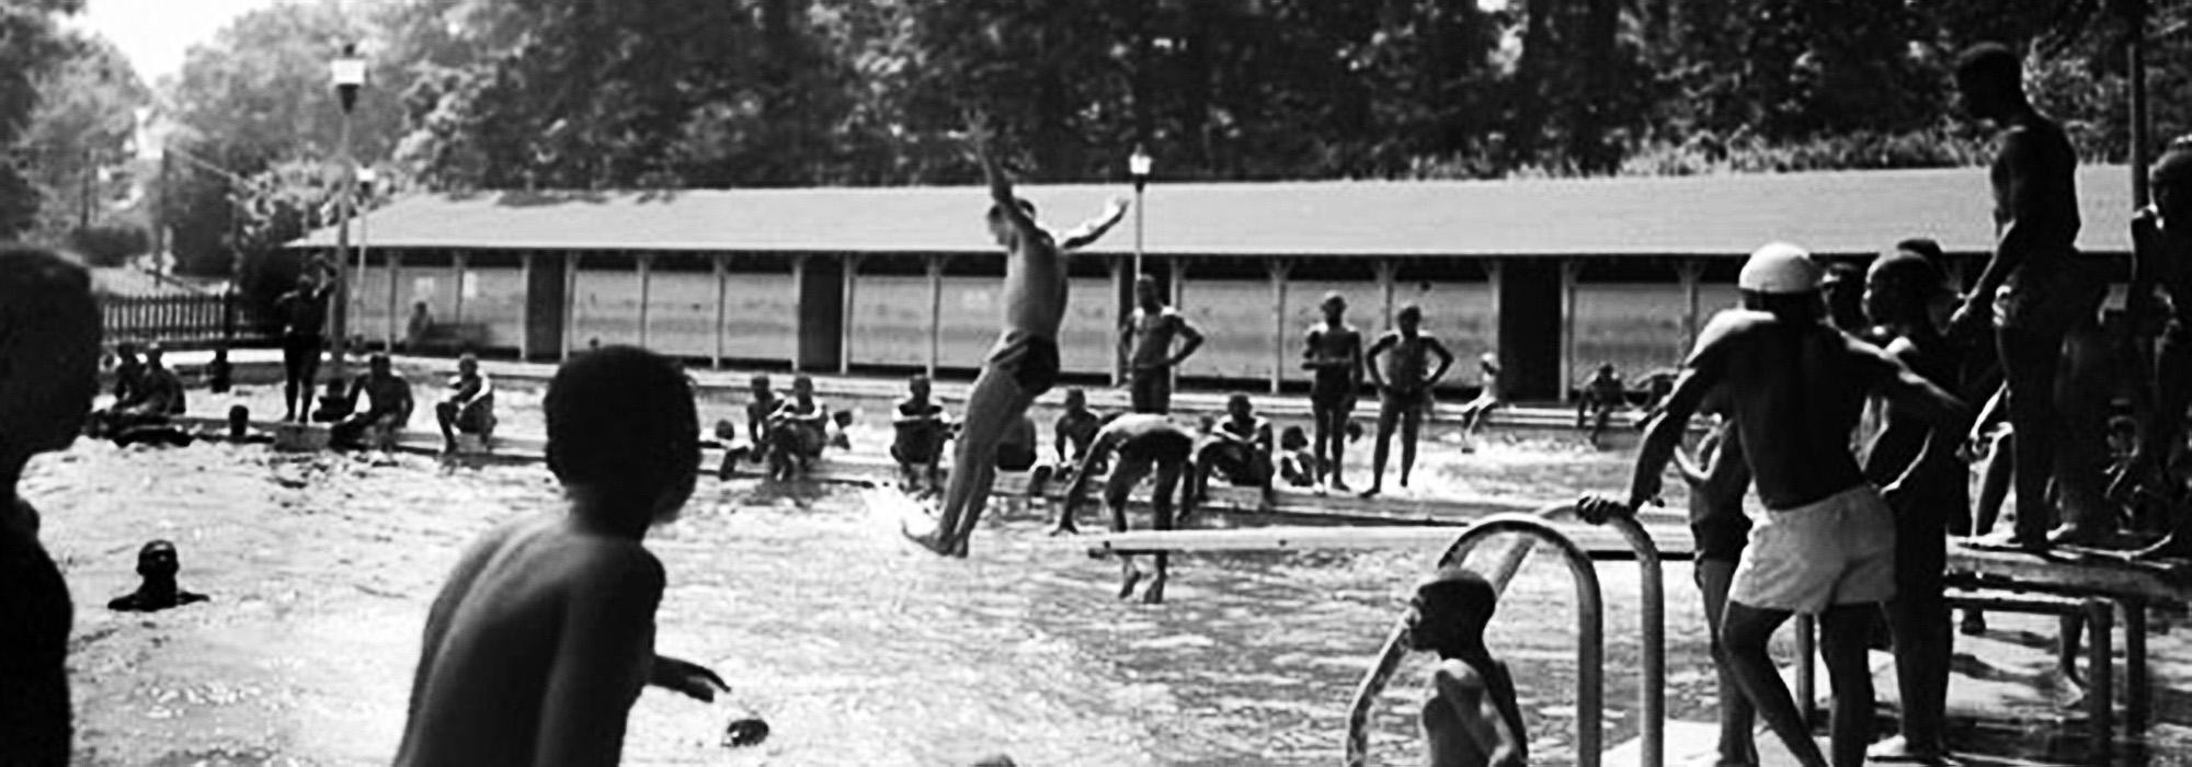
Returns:
[[[1789,752],[1806,767],[1826,765],[1767,655],[1773,629],[1795,614],[1819,614],[1819,649],[1835,688],[1833,763],[1854,767],[1872,741],[1865,642],[1881,603],[1894,596],[1894,519],[1850,456],[1850,430],[1868,394],[1949,434],[1966,425],[1968,410],[1876,346],[1828,327],[1819,278],[1819,263],[1802,248],[1769,243],[1754,252],[1736,278],[1743,309],[1712,318],[1666,412],[1646,430],[1626,504],[1598,500],[1580,511],[1633,513],[1655,500],[1690,416],[1708,392],[1725,388],[1767,506],[1729,585],[1721,622],[1727,662]]]

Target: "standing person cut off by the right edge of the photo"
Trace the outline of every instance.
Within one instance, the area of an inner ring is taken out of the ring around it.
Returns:
[[[2131,486],[2146,484],[2181,502],[2181,478],[2166,467],[2183,445],[2185,403],[2192,401],[2192,136],[2170,142],[2148,180],[2155,204],[2131,221],[2135,256],[2124,322],[2142,337],[2159,329],[2161,346],[2148,384],[2153,414],[2146,434],[2109,495],[2122,497]],[[2170,296],[2166,318],[2157,316],[2155,287]],[[2172,533],[2139,557],[2192,557],[2192,511],[2179,508],[2172,522]]]

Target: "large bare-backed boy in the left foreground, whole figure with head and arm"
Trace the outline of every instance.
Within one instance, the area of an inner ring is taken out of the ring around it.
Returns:
[[[642,541],[693,495],[693,384],[655,353],[605,346],[563,364],[541,410],[568,506],[458,557],[425,618],[397,765],[616,765],[642,686],[730,692],[655,655],[664,572]]]

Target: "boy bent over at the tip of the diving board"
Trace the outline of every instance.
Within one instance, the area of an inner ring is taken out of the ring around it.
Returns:
[[[1195,495],[1184,493],[1179,480],[1192,471],[1188,458],[1195,454],[1195,432],[1153,412],[1133,412],[1111,419],[1103,432],[1096,432],[1096,445],[1081,458],[1081,471],[1074,471],[1074,484],[1065,489],[1065,506],[1059,508],[1059,524],[1050,535],[1081,533],[1074,526],[1074,511],[1081,506],[1081,495],[1089,489],[1089,478],[1096,476],[1094,465],[1111,454],[1118,454],[1118,462],[1105,482],[1103,500],[1111,508],[1114,533],[1127,530],[1127,495],[1151,471],[1157,473],[1157,486],[1149,493],[1151,528],[1173,528],[1173,493],[1179,493],[1181,515],[1192,511]],[[1155,552],[1153,557],[1157,559],[1157,574],[1149,581],[1149,589],[1142,592],[1142,600],[1151,605],[1164,600],[1168,563],[1166,552]],[[1142,581],[1142,570],[1135,568],[1133,557],[1120,557],[1118,561],[1122,576],[1118,598],[1127,598],[1133,596],[1133,585]]]

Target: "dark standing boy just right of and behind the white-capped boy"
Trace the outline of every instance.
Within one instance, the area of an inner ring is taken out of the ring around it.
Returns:
[[[1944,274],[1931,261],[1894,252],[1872,261],[1863,309],[1870,327],[1885,331],[1890,357],[1942,390],[1960,390],[1962,359],[1931,313],[1946,291]],[[1944,730],[1953,642],[1942,579],[1951,517],[1971,508],[1971,469],[1953,456],[1962,432],[1940,432],[1907,408],[1883,405],[1881,432],[1865,449],[1865,478],[1898,489],[1885,495],[1896,517],[1896,596],[1887,600],[1887,627],[1894,631],[1896,686],[1903,690],[1903,734],[1879,743],[1870,756],[1940,763],[1949,756]],[[1914,465],[1925,473],[1907,473]]]

